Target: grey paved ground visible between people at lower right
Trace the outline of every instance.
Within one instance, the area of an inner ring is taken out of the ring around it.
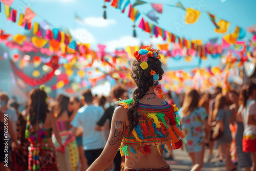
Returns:
[[[217,159],[213,159],[210,163],[207,163],[207,153],[205,152],[205,159],[204,159],[204,166],[202,171],[224,171],[226,170],[225,163],[218,162]],[[217,152],[214,152],[217,153]],[[217,156],[215,154],[215,156]],[[182,151],[181,149],[177,149],[174,151],[174,160],[168,160],[167,163],[170,165],[170,168],[172,168],[173,171],[187,171],[191,168],[191,160],[188,156],[188,154],[185,151]]]

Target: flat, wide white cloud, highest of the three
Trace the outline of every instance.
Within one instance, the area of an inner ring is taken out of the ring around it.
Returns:
[[[87,17],[84,19],[77,19],[77,22],[81,25],[90,25],[94,27],[108,27],[116,24],[115,19],[104,19],[102,17]]]

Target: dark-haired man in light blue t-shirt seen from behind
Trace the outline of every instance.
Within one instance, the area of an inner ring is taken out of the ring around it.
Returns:
[[[101,132],[94,130],[104,110],[101,106],[93,104],[93,96],[90,90],[84,91],[82,96],[84,97],[86,105],[82,106],[82,108],[77,111],[74,119],[71,121],[71,125],[73,126],[74,135],[76,135],[78,127],[82,127],[84,156],[86,156],[88,166],[90,166],[94,160],[99,157],[106,143]]]

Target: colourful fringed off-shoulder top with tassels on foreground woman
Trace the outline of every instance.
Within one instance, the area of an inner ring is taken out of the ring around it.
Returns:
[[[133,99],[118,102],[119,105],[122,105],[127,109],[129,108],[129,105],[133,103]],[[168,102],[165,102],[164,105],[139,103],[137,108],[139,124],[134,128],[130,135],[129,126],[126,127],[120,146],[121,155],[129,156],[129,151],[137,155],[146,155],[147,153],[151,153],[148,145],[157,146],[160,155],[159,146],[161,146],[167,153],[164,144],[166,144],[169,149],[180,148],[182,140],[178,139],[175,133],[181,138],[184,138],[184,135],[177,128],[180,124],[179,118],[176,117],[178,114],[177,112],[178,108],[176,105],[169,104]],[[169,140],[168,136],[170,136],[172,140]],[[137,144],[135,149],[133,149],[131,144]],[[142,147],[142,144],[144,144],[144,147]],[[140,147],[140,151],[137,146]]]

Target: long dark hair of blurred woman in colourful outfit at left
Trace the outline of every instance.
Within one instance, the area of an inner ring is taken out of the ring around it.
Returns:
[[[44,123],[46,114],[49,113],[48,104],[46,102],[47,94],[44,90],[33,89],[30,93],[30,102],[28,106],[31,125],[37,122]]]

